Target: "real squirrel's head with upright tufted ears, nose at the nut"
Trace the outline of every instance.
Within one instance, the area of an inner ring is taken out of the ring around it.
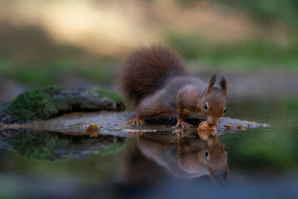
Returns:
[[[198,102],[198,108],[205,113],[207,116],[207,121],[211,126],[217,126],[218,119],[221,118],[226,111],[226,81],[224,78],[222,78],[219,83],[220,87],[214,87],[215,81],[216,75],[213,75],[202,98]]]

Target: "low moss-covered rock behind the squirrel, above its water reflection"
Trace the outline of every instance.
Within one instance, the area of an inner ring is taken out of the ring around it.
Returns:
[[[123,97],[107,89],[88,92],[81,88],[48,86],[21,93],[0,106],[0,124],[49,119],[78,111],[125,110]]]

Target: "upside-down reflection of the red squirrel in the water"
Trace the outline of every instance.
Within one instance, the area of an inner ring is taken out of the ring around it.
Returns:
[[[217,137],[178,138],[132,132],[134,149],[128,149],[122,165],[126,182],[142,183],[162,179],[165,175],[197,178],[210,175],[213,183],[227,181],[227,150]]]

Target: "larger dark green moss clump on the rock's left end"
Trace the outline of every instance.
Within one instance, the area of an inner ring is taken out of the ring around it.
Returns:
[[[61,90],[65,88],[48,86],[25,91],[12,101],[10,113],[23,120],[48,119],[57,113],[52,96]]]

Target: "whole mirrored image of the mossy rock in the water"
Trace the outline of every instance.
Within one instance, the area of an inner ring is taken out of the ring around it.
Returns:
[[[19,156],[32,160],[57,161],[85,158],[89,154],[110,155],[126,147],[124,138],[99,136],[96,139],[76,137],[56,132],[18,130],[18,135],[9,139],[11,149]]]

